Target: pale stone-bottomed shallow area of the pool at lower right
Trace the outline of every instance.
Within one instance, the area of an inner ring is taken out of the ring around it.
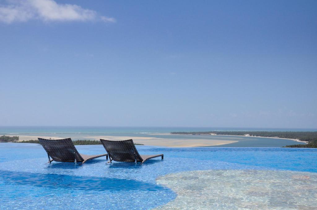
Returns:
[[[271,170],[206,170],[169,174],[157,183],[177,198],[157,209],[317,209],[317,174]]]

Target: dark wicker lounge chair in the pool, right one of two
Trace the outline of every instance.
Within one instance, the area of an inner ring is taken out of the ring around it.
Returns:
[[[102,145],[105,147],[109,155],[109,162],[112,160],[118,162],[141,162],[143,164],[145,161],[162,157],[163,154],[159,155],[140,155],[137,149],[134,146],[133,140],[123,140],[123,141],[110,141],[105,139],[100,139]],[[109,163],[108,162],[108,163]]]

